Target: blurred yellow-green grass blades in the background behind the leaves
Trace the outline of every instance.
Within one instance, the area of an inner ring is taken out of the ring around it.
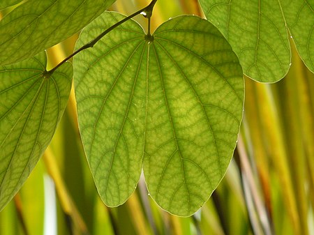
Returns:
[[[110,10],[130,15],[147,3],[117,0]],[[182,14],[202,16],[197,0],[158,0],[152,29]],[[147,27],[144,17],[135,20]],[[47,50],[49,66],[71,54],[76,39]],[[80,142],[72,93],[52,144],[1,211],[0,234],[314,234],[314,75],[292,43],[292,66],[284,79],[245,82],[234,158],[217,190],[192,217],[161,210],[147,194],[144,179],[126,204],[107,208],[100,201]]]

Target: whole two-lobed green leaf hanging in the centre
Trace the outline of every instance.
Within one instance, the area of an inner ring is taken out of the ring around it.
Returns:
[[[123,16],[104,13],[77,47]],[[237,56],[199,17],[162,24],[154,40],[128,21],[77,55],[75,93],[84,150],[105,204],[136,187],[142,162],[151,197],[190,215],[222,179],[239,132],[244,82]]]

